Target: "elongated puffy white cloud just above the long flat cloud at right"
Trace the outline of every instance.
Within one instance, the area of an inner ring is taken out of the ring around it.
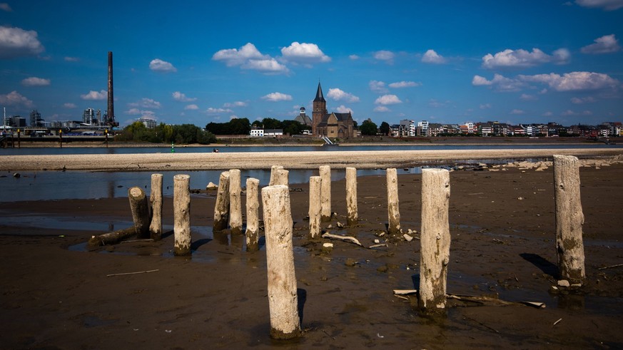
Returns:
[[[542,63],[564,64],[569,61],[571,54],[566,48],[559,48],[552,55],[541,51],[538,48],[532,48],[532,51],[526,51],[522,48],[519,50],[511,50],[507,48],[492,55],[487,53],[482,57],[482,68],[527,68],[538,66]]]

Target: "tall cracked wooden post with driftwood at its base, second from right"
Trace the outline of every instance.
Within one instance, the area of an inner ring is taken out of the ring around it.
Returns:
[[[420,308],[445,310],[447,264],[450,262],[450,172],[422,170],[422,232],[420,234]]]

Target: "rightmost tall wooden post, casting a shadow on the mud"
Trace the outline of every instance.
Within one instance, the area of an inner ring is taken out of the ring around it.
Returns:
[[[580,201],[579,163],[573,155],[554,155],[554,202],[556,204],[556,252],[560,279],[582,283],[584,213]]]

